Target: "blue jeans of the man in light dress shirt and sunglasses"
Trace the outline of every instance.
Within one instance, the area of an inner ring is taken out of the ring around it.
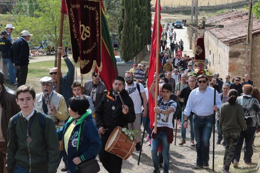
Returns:
[[[200,119],[193,115],[193,126],[196,140],[197,165],[209,163],[209,139],[213,128],[214,116]]]

